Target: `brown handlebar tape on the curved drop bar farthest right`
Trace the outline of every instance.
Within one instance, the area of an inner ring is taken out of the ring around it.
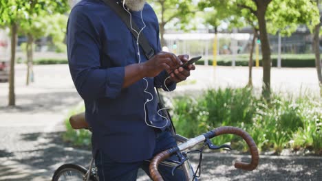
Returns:
[[[259,162],[258,149],[257,149],[255,141],[247,132],[245,132],[244,130],[241,130],[240,128],[235,128],[235,127],[231,127],[231,126],[219,127],[219,128],[216,128],[215,130],[213,130],[213,132],[215,132],[215,136],[219,136],[222,134],[236,134],[236,135],[244,138],[244,140],[246,141],[246,143],[250,149],[252,161],[250,163],[235,162],[235,168],[244,169],[247,171],[252,171],[252,170],[256,169],[258,162]]]

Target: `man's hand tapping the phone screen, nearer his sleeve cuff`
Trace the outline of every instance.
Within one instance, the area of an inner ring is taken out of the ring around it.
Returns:
[[[182,60],[180,58],[173,53],[161,51],[147,62],[144,62],[142,67],[145,74],[144,77],[155,77],[163,70],[171,72],[171,70],[180,67],[180,65],[182,65]]]

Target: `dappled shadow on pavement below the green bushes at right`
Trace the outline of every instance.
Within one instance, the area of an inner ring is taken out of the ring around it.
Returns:
[[[240,159],[241,157],[241,159]],[[197,162],[197,156],[193,156]],[[321,159],[261,158],[254,171],[235,169],[236,160],[249,162],[246,156],[209,154],[202,160],[200,180],[321,180]]]

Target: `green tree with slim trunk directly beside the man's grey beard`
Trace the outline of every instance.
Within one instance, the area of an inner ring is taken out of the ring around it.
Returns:
[[[167,23],[177,19],[184,25],[193,16],[194,6],[192,0],[149,0],[159,19],[160,43],[164,42],[164,31]]]

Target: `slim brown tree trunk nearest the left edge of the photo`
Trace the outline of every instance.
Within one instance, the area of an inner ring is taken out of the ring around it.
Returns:
[[[9,76],[9,106],[16,105],[16,95],[14,95],[14,63],[16,60],[16,45],[17,45],[17,30],[16,23],[11,25],[11,60],[10,60],[10,76]]]

